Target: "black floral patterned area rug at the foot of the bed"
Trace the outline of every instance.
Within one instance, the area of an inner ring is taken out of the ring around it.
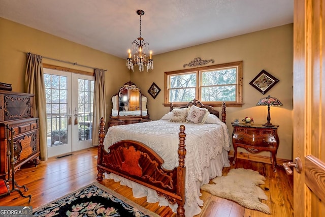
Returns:
[[[33,210],[33,216],[159,216],[150,210],[93,182]]]

